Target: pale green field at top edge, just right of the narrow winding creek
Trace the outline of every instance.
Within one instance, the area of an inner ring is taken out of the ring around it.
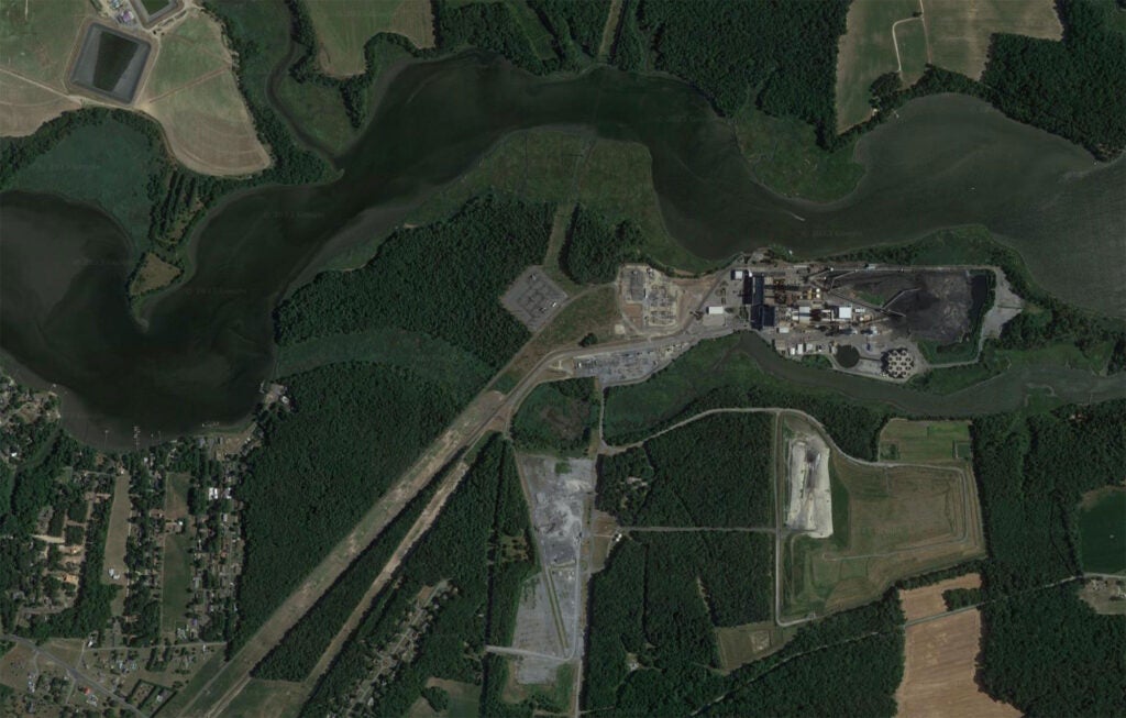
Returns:
[[[434,47],[429,0],[312,0],[305,7],[320,42],[318,61],[333,77],[364,72],[364,45],[377,33],[396,33],[415,47]]]

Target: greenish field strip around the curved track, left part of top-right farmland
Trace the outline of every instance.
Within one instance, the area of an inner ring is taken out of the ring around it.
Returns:
[[[855,0],[849,6],[847,29],[837,53],[837,132],[872,116],[868,96],[873,81],[896,69],[892,24],[918,11],[918,0]],[[920,23],[901,24],[896,36],[909,25]]]

